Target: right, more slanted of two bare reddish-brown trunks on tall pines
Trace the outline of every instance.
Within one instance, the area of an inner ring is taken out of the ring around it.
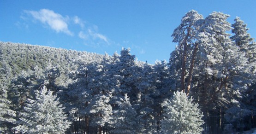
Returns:
[[[190,88],[191,88],[192,73],[193,73],[193,69],[194,69],[194,65],[195,65],[197,47],[198,47],[198,43],[195,44],[194,51],[192,53],[190,69],[189,69],[189,76],[188,76],[188,81],[187,81],[186,90],[185,90],[185,93],[187,94],[187,96],[189,95]]]

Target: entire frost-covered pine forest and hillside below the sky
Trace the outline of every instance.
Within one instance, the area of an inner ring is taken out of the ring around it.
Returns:
[[[173,31],[169,63],[136,61],[129,48],[110,56],[0,42],[0,133],[255,128],[256,43],[239,17],[232,24],[228,17],[187,12]]]

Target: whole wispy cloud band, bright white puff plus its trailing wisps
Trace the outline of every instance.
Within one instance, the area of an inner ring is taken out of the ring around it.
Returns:
[[[102,45],[113,44],[113,41],[108,39],[106,35],[98,32],[98,27],[95,24],[87,23],[85,20],[81,19],[78,16],[63,17],[61,14],[49,9],[41,9],[39,11],[25,10],[23,13],[24,14],[21,16],[21,19],[23,19],[24,21],[30,21],[32,17],[34,18],[34,20],[41,22],[42,24],[49,27],[50,29],[53,29],[57,33],[65,33],[67,35],[73,36],[74,34],[73,32],[71,32],[70,29],[74,25],[79,25],[80,30],[77,33],[77,36],[83,39],[85,44],[88,46],[99,47]],[[19,25],[20,23],[17,23],[17,26]]]

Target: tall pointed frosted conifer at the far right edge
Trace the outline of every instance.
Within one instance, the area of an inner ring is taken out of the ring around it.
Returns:
[[[247,61],[246,66],[242,71],[237,71],[233,82],[234,87],[239,90],[233,93],[235,99],[232,99],[230,107],[225,114],[226,125],[232,126],[236,131],[243,131],[244,129],[251,128],[253,125],[253,118],[256,113],[256,105],[254,98],[256,96],[255,82],[256,82],[256,42],[247,33],[248,28],[240,17],[236,17],[235,23],[232,24],[232,33],[234,34],[231,39],[235,41],[236,45],[240,48]],[[230,129],[230,128],[229,128]]]

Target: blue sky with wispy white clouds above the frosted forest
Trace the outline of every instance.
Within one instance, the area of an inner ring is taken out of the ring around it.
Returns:
[[[167,60],[186,12],[238,16],[256,37],[256,0],[0,0],[0,41]]]

